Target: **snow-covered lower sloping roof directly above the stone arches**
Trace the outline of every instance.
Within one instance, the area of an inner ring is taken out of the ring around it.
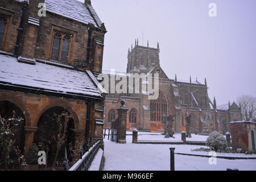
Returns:
[[[60,93],[101,97],[85,72],[53,65],[19,63],[16,58],[0,55],[0,82],[30,86]]]

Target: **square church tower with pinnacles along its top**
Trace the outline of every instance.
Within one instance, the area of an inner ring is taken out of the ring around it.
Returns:
[[[159,43],[157,48],[139,46],[139,40],[135,39],[135,46],[131,44],[128,49],[127,73],[148,73],[152,68],[159,64]]]

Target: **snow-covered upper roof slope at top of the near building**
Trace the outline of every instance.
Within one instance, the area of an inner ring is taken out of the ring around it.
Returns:
[[[85,24],[92,23],[96,27],[101,26],[101,20],[91,5],[77,0],[45,0],[46,10]],[[89,10],[88,10],[89,9]]]

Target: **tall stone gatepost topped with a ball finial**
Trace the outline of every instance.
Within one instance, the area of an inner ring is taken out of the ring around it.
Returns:
[[[121,101],[121,106],[117,109],[118,113],[118,131],[117,131],[117,143],[126,143],[126,119],[127,119],[127,107],[125,106],[125,100]]]

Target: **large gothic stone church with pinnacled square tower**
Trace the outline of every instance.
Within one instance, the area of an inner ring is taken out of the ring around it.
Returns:
[[[158,100],[148,100],[148,94],[108,94],[105,100],[105,126],[117,119],[116,109],[119,100],[126,100],[127,129],[142,131],[162,131],[162,114],[176,114],[174,129],[176,132],[185,130],[185,116],[191,114],[192,133],[209,134],[217,130],[226,133],[230,130],[230,121],[242,119],[241,108],[236,103],[217,106],[208,97],[207,80],[204,84],[199,81],[180,81],[170,79],[160,67],[159,44],[157,48],[143,47],[135,41],[135,47],[128,51],[127,73],[159,73]],[[108,73],[110,75],[110,73]],[[147,84],[140,81],[140,84]]]

